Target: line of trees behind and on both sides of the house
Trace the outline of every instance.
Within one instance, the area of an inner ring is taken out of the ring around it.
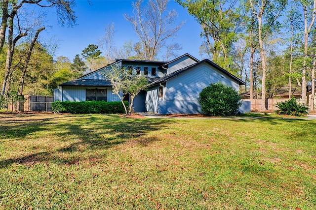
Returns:
[[[307,86],[312,89],[310,108],[314,109],[316,0],[176,1],[201,27],[201,57],[246,81],[240,91],[249,91],[250,98],[261,97],[263,110],[265,99],[274,97],[283,87],[288,88],[289,98],[294,89],[300,89],[302,102],[306,103]],[[58,84],[107,65],[115,58],[171,60],[181,49],[179,43],[168,42],[185,24],[177,21],[175,10],[168,9],[168,0],[136,0],[132,3],[133,14],[124,17],[138,35],[138,41],[126,40],[123,46],[116,47],[112,23],[105,27],[105,35],[97,44],[88,45],[74,60],[62,56],[54,60],[49,52],[51,46],[37,40],[44,30],[42,22],[37,19],[30,24],[20,15],[20,8],[26,4],[44,9],[54,7],[61,24],[73,25],[74,0],[46,0],[45,5],[42,2],[0,2],[1,96],[10,92],[52,94]],[[28,27],[21,27],[23,24]]]

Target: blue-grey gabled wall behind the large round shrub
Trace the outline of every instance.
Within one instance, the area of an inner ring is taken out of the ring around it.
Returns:
[[[205,63],[180,73],[166,82],[165,100],[158,101],[158,114],[201,113],[199,93],[210,83],[218,81],[235,90],[239,89],[237,81]]]

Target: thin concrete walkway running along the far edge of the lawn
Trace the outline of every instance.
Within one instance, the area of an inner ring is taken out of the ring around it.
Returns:
[[[146,118],[156,118],[156,119],[210,119],[210,120],[222,120],[222,119],[265,119],[266,117],[231,117],[231,118],[216,118],[216,117],[203,117],[203,118],[198,118],[198,117],[172,117],[172,116],[165,116],[165,115],[157,115],[154,113],[147,113],[147,112],[140,112],[138,113]],[[270,118],[271,119],[271,118]],[[275,119],[280,119],[280,118],[275,118]],[[284,118],[284,119],[289,119],[289,118]],[[302,120],[316,120],[316,115],[308,115],[307,118],[296,118],[296,119],[302,119]]]

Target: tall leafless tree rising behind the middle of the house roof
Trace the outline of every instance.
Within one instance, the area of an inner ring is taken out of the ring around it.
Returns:
[[[132,3],[134,16],[124,15],[141,40],[146,60],[154,60],[166,47],[166,40],[174,37],[183,25],[175,25],[178,14],[167,10],[168,1],[149,0],[143,5],[142,0],[136,0]]]

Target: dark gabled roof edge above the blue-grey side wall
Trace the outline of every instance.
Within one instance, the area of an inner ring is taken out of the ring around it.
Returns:
[[[235,81],[237,81],[237,82],[239,83],[239,85],[244,85],[244,84],[245,84],[242,80],[240,80],[239,78],[237,78],[237,77],[234,76],[233,74],[229,73],[228,71],[226,71],[225,69],[223,69],[223,68],[220,67],[219,65],[215,64],[214,62],[212,62],[212,61],[210,61],[210,60],[208,60],[208,59],[205,59],[205,60],[201,60],[201,61],[199,61],[199,62],[197,62],[197,63],[194,63],[194,64],[192,64],[192,65],[189,65],[189,66],[187,66],[187,67],[185,67],[185,68],[179,69],[179,70],[177,70],[177,71],[175,71],[175,72],[172,72],[171,74],[167,74],[166,76],[161,77],[161,78],[159,78],[157,81],[151,83],[150,86],[155,86],[155,85],[158,85],[158,84],[161,83],[161,82],[166,82],[167,80],[169,80],[169,79],[171,79],[171,78],[177,76],[178,74],[180,74],[180,73],[182,73],[182,72],[184,72],[184,71],[186,71],[186,70],[192,69],[192,68],[196,67],[197,65],[199,65],[199,64],[201,64],[201,63],[207,63],[207,64],[209,64],[209,65],[215,67],[217,70],[221,71],[222,73],[226,74],[226,75],[229,76],[230,78],[232,78],[232,79],[234,79]]]

